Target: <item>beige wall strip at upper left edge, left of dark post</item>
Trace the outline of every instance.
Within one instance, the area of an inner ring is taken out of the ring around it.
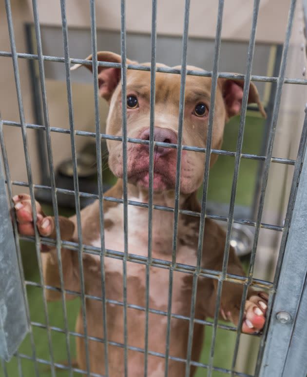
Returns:
[[[25,1],[21,0],[11,0],[11,4],[17,51],[24,52],[26,48],[23,23],[24,20],[28,19],[30,16],[28,6]],[[0,2],[0,49],[10,51],[4,1]],[[0,57],[0,66],[0,111],[2,119],[19,122],[20,119],[12,60]],[[19,59],[19,71],[25,119],[27,122],[33,123],[32,99],[29,94],[31,86],[28,74],[28,62],[26,60]],[[5,125],[3,128],[12,179],[27,181],[21,130],[20,128],[8,127]],[[35,133],[33,130],[28,130],[27,135],[34,180],[39,182]],[[17,187],[15,186],[15,188]],[[15,192],[17,191],[18,190],[15,190]]]

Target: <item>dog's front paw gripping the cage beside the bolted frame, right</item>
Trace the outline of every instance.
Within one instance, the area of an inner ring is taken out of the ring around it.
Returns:
[[[266,322],[268,299],[269,297],[265,292],[259,292],[250,296],[246,301],[242,324],[243,333],[253,334],[262,330]]]

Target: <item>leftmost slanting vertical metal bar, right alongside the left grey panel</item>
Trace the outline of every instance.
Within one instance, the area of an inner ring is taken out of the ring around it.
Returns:
[[[5,171],[5,177],[7,182],[7,192],[9,198],[13,198],[13,192],[12,192],[12,180],[10,175],[10,169],[8,164],[8,158],[6,153],[6,148],[4,144],[4,135],[3,135],[3,122],[0,114],[0,147],[2,151],[2,158],[3,158],[3,164],[4,164],[4,171]],[[22,282],[22,294],[23,294],[23,300],[25,302],[25,310],[26,310],[26,316],[27,316],[27,323],[28,323],[28,331],[30,336],[30,344],[32,349],[32,358],[34,360],[34,369],[35,369],[35,375],[38,377],[38,364],[36,361],[36,349],[35,349],[35,341],[33,336],[33,329],[31,326],[31,320],[30,320],[30,309],[29,309],[29,302],[27,297],[27,290],[25,285],[25,278],[23,273],[23,266],[22,266],[22,258],[21,258],[21,252],[20,252],[20,245],[19,245],[19,235],[18,235],[18,226],[17,226],[17,220],[14,212],[14,203],[12,200],[10,200],[10,206],[11,206],[11,213],[12,213],[12,219],[13,219],[13,229],[14,229],[14,237],[15,237],[15,245],[17,250],[17,258],[18,258],[18,264],[19,264],[19,274]]]

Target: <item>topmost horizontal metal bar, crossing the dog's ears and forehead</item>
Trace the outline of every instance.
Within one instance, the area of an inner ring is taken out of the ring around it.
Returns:
[[[8,51],[0,51],[0,57],[7,57],[11,58],[12,54]],[[35,54],[24,54],[24,53],[17,53],[17,58],[21,59],[31,59],[31,60],[38,60],[38,56]],[[46,61],[55,61],[63,63],[65,60],[62,57],[56,57],[56,56],[48,56],[43,55],[43,60]],[[70,59],[70,62],[72,64],[84,64],[84,65],[92,65],[91,60],[84,60],[84,59]],[[115,67],[120,68],[120,63],[110,63],[110,62],[101,62],[98,61],[98,66],[100,67]],[[140,64],[127,64],[128,69],[134,69],[139,71],[150,71],[150,66],[140,65]],[[181,75],[181,70],[176,68],[169,68],[169,67],[156,67],[156,72],[164,72],[164,73],[173,73],[177,75]],[[212,77],[212,71],[198,71],[198,70],[187,70],[187,75],[190,76],[202,76],[202,77]],[[223,79],[244,79],[244,75],[239,74],[233,74],[233,73],[227,73],[227,72],[219,72],[218,74],[219,78]],[[268,77],[268,76],[258,76],[258,75],[252,75],[251,81],[262,81],[262,82],[277,82],[277,77]],[[307,79],[290,79],[285,78],[284,81],[285,84],[300,84],[300,85],[307,85]]]

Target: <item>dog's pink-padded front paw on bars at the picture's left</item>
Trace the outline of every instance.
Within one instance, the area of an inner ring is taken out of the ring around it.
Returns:
[[[27,194],[15,195],[13,198],[18,221],[19,233],[23,236],[34,236],[34,222],[31,207],[31,198]],[[45,216],[41,210],[40,204],[36,201],[37,227],[38,232],[43,237],[51,235],[54,228],[54,221],[51,216]]]

